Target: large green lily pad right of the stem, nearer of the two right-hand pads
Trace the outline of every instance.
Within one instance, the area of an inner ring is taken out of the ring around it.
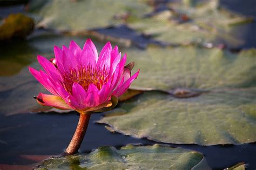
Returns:
[[[256,88],[177,99],[145,92],[105,114],[112,130],[173,144],[244,144],[256,141]]]

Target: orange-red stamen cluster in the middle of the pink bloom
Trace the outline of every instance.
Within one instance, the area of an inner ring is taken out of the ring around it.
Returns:
[[[81,66],[77,70],[70,69],[68,73],[63,76],[64,87],[68,92],[72,92],[73,83],[78,83],[86,91],[90,84],[94,84],[100,90],[102,86],[107,82],[109,73],[107,73],[105,66],[92,67],[91,65]]]

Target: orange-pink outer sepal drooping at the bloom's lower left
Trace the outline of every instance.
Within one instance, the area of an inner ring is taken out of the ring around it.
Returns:
[[[44,106],[52,106],[62,110],[72,109],[62,98],[54,95],[39,93],[37,96],[37,102]]]

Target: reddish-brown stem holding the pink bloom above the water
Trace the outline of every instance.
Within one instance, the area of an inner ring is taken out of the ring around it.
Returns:
[[[66,148],[66,153],[68,153],[68,154],[77,153],[77,151],[84,139],[84,135],[85,135],[87,126],[89,124],[90,116],[91,116],[90,113],[86,113],[86,114],[80,113],[76,132],[73,135],[73,138],[71,139],[68,148]]]

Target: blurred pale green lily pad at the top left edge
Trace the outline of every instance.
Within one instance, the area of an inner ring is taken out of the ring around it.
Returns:
[[[37,5],[37,3],[41,5]],[[114,19],[118,14],[133,13],[142,17],[151,7],[142,1],[32,1],[31,11],[42,16],[37,26],[67,30],[89,30],[120,23]],[[75,10],[74,10],[75,9]],[[122,22],[121,22],[122,23]]]

